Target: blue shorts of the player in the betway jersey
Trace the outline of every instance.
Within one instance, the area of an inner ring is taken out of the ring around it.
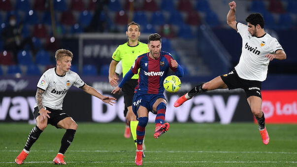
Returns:
[[[132,109],[134,114],[136,115],[136,119],[138,120],[137,110],[140,105],[144,106],[148,111],[151,111],[154,114],[157,114],[153,111],[153,105],[157,99],[163,98],[165,99],[164,94],[145,94],[140,95],[135,93],[132,102]],[[166,100],[166,99],[165,99]]]

